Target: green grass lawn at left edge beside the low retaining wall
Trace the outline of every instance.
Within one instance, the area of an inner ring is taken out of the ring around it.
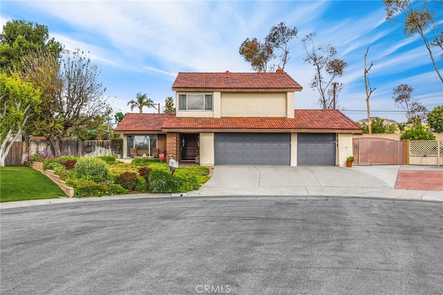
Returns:
[[[66,197],[41,172],[26,166],[0,168],[0,202]]]

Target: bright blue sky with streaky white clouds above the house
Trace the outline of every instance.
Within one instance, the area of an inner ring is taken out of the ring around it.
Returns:
[[[363,57],[369,46],[370,84],[377,88],[371,115],[404,122],[392,89],[409,84],[413,96],[432,110],[443,105],[443,86],[422,39],[406,37],[401,22],[385,17],[383,1],[1,1],[0,22],[37,22],[65,48],[89,51],[111,106],[126,113],[139,91],[163,107],[167,96],[174,97],[178,72],[252,71],[239,45],[247,37],[263,40],[271,26],[286,21],[298,28],[285,67],[303,87],[295,108],[319,107],[318,94],[309,87],[314,68],[303,61],[301,45],[302,37],[316,33],[316,44],[336,46],[348,64],[339,78],[344,88],[338,105],[345,114],[366,117]],[[443,21],[443,10],[436,19]]]

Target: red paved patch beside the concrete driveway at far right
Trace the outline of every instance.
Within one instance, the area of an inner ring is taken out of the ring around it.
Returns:
[[[395,188],[400,190],[443,190],[443,171],[399,170]]]

